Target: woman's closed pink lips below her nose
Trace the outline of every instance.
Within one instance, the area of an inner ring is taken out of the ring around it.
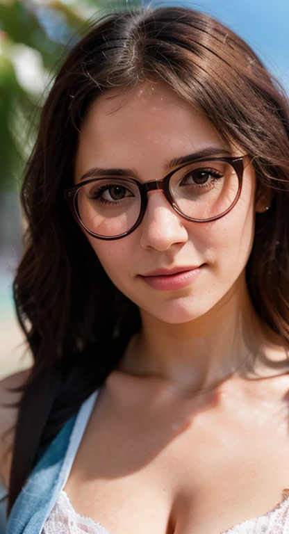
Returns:
[[[197,267],[176,267],[173,269],[156,269],[147,275],[140,275],[142,280],[154,289],[174,291],[191,284],[201,273],[204,264]],[[154,273],[154,274],[152,274]]]

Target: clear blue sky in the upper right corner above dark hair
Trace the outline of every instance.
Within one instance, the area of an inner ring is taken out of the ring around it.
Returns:
[[[248,42],[289,93],[289,0],[169,0],[160,3],[190,6],[219,19]]]

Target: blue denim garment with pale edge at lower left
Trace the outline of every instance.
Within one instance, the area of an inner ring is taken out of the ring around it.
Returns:
[[[40,534],[65,486],[76,451],[94,406],[97,391],[65,423],[33,469],[10,512],[7,526],[5,505],[1,505],[0,534]]]

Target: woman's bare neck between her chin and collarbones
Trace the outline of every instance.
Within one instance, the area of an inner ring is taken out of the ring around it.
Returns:
[[[164,323],[140,313],[142,329],[131,340],[121,371],[157,376],[190,391],[214,387],[233,374],[254,375],[265,337],[245,284],[244,291],[232,289],[187,323]]]

